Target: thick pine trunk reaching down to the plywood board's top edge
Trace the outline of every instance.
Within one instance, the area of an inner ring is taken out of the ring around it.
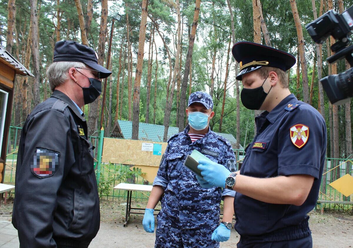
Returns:
[[[140,120],[140,85],[143,66],[143,53],[146,37],[148,0],[142,0],[141,24],[138,39],[138,52],[135,82],[133,87],[133,119],[132,119],[132,139],[138,140],[138,126]]]

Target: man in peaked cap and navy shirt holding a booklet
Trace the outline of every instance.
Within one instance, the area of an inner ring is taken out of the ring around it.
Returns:
[[[240,64],[241,101],[265,110],[246,147],[240,171],[200,160],[201,185],[226,186],[234,198],[237,247],[312,247],[307,213],[316,205],[326,152],[326,125],[311,105],[288,89],[286,71],[295,58],[252,42],[232,49]]]

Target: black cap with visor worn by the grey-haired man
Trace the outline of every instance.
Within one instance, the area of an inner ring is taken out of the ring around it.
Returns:
[[[98,65],[98,55],[95,50],[75,41],[58,41],[55,43],[53,62],[57,61],[82,62],[100,72],[100,78],[106,78],[112,74],[111,71]]]

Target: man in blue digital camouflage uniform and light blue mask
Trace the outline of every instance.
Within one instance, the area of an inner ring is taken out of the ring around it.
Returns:
[[[168,140],[143,219],[145,231],[154,232],[153,211],[161,200],[155,247],[212,248],[230,237],[235,192],[220,187],[203,188],[196,174],[183,165],[186,156],[197,150],[226,170],[232,168],[235,157],[231,144],[209,129],[214,116],[212,108],[209,94],[192,93],[186,109],[189,125]],[[192,134],[204,136],[192,142]],[[219,224],[221,198],[225,208]]]

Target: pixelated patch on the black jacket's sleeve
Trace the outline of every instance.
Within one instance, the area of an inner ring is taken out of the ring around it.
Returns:
[[[59,168],[59,157],[59,152],[37,147],[31,161],[32,173],[39,178],[54,175]]]

